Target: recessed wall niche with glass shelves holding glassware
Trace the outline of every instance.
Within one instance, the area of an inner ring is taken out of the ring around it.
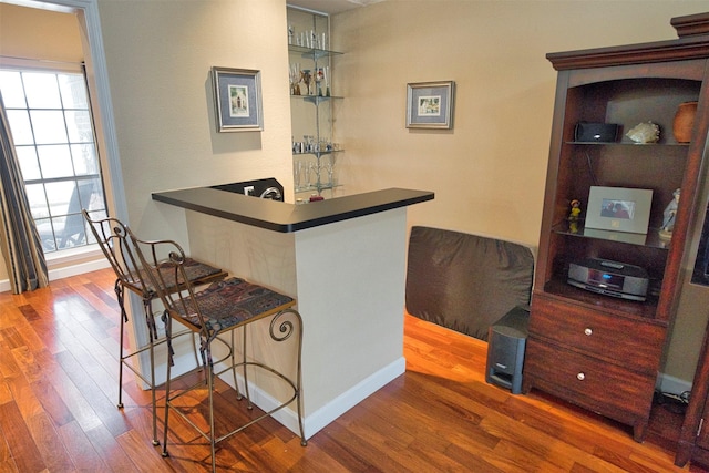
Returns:
[[[332,89],[330,19],[325,13],[288,7],[288,61],[296,199],[329,197],[340,187],[335,114],[341,96]]]

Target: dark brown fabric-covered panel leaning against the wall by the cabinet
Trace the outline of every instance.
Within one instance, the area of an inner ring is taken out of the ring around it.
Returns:
[[[487,329],[530,304],[534,256],[510,241],[414,226],[409,239],[407,311],[487,340]]]

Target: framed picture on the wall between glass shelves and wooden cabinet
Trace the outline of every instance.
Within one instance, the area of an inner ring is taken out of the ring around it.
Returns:
[[[455,82],[407,84],[407,128],[453,127]]]

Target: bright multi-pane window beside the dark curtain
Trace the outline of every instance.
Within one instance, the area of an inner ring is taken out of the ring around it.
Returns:
[[[0,93],[44,253],[94,243],[81,210],[106,205],[83,71],[0,69]]]

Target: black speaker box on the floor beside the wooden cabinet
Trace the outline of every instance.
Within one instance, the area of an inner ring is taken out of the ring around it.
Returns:
[[[522,368],[527,342],[530,310],[515,307],[490,327],[485,381],[522,392]]]

